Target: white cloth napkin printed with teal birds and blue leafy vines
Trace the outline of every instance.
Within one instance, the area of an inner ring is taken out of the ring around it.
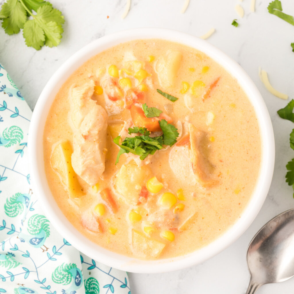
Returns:
[[[126,272],[80,253],[30,188],[31,109],[0,64],[0,293],[130,294]]]

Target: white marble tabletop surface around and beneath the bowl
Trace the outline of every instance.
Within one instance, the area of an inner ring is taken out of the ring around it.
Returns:
[[[294,157],[289,147],[289,133],[294,124],[278,117],[276,111],[286,102],[270,94],[258,78],[258,66],[261,66],[268,71],[274,87],[294,98],[294,53],[290,48],[294,27],[268,13],[266,7],[270,0],[256,0],[255,13],[249,11],[249,0],[191,0],[185,14],[180,14],[184,0],[132,0],[124,20],[120,17],[124,0],[51,2],[66,19],[58,47],[35,51],[26,47],[22,34],[8,36],[0,29],[0,60],[32,109],[50,76],[78,49],[105,34],[143,26],[176,29],[195,36],[215,27],[216,33],[208,42],[236,60],[257,85],[273,122],[276,143],[273,181],[257,218],[229,248],[200,265],[172,273],[129,275],[132,294],[245,293],[249,282],[248,243],[270,218],[294,207],[292,187],[285,183],[285,164]],[[236,4],[245,9],[238,28],[231,25],[233,19],[238,19]],[[293,0],[282,0],[282,4],[285,13],[294,15]],[[293,293],[293,287],[294,279],[291,279],[264,285],[258,293]]]

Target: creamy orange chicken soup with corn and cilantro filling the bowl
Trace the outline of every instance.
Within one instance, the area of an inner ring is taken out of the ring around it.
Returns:
[[[64,215],[98,245],[142,259],[184,255],[223,234],[250,200],[260,153],[235,78],[202,52],[157,39],[84,63],[44,130],[47,180]]]

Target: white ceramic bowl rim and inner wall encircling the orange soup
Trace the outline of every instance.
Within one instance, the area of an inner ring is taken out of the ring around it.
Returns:
[[[49,108],[53,103],[56,93],[74,70],[91,56],[111,46],[134,39],[154,38],[175,41],[196,48],[214,59],[238,80],[238,83],[253,105],[258,118],[262,144],[262,159],[257,184],[247,207],[236,223],[223,235],[204,248],[184,256],[143,261],[119,255],[99,247],[79,233],[63,215],[54,201],[46,180],[43,159],[43,130]],[[28,148],[34,193],[38,195],[44,213],[56,230],[73,246],[91,258],[114,268],[136,273],[159,273],[186,268],[213,257],[237,240],[257,216],[263,205],[270,188],[275,161],[275,143],[270,116],[263,98],[245,71],[235,61],[207,41],[179,31],[157,28],[132,29],[110,34],[93,41],[71,56],[51,77],[39,97],[31,120]]]

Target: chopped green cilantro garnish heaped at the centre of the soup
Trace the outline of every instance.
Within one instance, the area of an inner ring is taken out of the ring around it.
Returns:
[[[154,154],[157,150],[164,148],[163,145],[172,146],[176,143],[179,136],[178,129],[164,119],[158,122],[163,132],[161,136],[150,137],[150,131],[148,131],[147,128],[134,127],[129,128],[128,133],[138,133],[141,135],[126,137],[121,144],[119,143],[121,136],[114,138],[113,142],[121,147],[118,151],[115,164],[118,163],[119,157],[123,153],[131,152],[140,156],[141,160],[144,160],[149,154]]]

